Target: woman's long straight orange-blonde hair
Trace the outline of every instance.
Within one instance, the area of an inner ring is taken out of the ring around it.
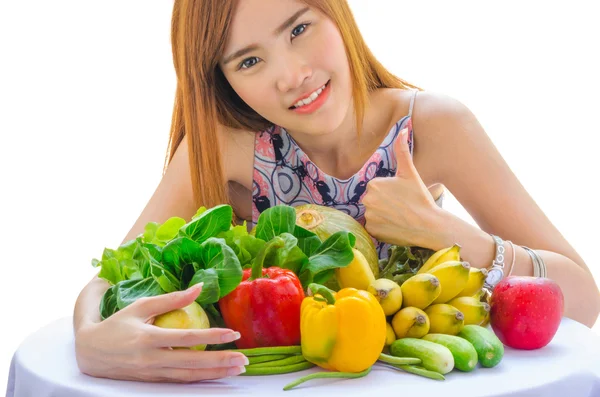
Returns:
[[[341,33],[359,131],[369,92],[377,88],[419,89],[394,76],[373,56],[346,0],[304,3],[333,20]],[[249,131],[271,125],[240,99],[219,68],[236,4],[236,0],[175,0],[173,7],[171,45],[177,90],[164,170],[187,136],[197,207],[230,202],[217,139],[219,123]]]

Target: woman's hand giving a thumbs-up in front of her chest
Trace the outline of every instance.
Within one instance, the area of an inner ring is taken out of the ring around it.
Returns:
[[[365,228],[378,241],[436,249],[440,212],[412,161],[408,130],[394,143],[398,168],[393,177],[374,178],[363,196]]]

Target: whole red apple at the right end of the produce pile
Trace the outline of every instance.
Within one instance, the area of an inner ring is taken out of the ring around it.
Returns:
[[[490,325],[502,343],[515,349],[546,346],[558,330],[564,297],[549,278],[510,276],[490,298]]]

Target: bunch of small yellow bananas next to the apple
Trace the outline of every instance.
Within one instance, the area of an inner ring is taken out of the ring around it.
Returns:
[[[490,294],[483,288],[487,271],[462,261],[460,248],[454,244],[435,252],[401,285],[387,278],[370,283],[367,291],[389,320],[386,345],[394,338],[458,335],[465,325],[488,324]]]

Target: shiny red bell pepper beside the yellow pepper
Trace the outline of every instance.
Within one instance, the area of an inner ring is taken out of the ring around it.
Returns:
[[[238,349],[300,344],[300,307],[304,290],[291,270],[262,267],[256,261],[245,269],[242,282],[219,300],[227,328],[241,334]]]

